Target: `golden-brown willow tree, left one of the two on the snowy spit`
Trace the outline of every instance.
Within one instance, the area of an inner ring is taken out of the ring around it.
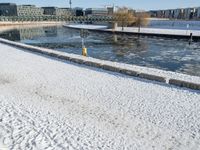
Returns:
[[[127,7],[121,7],[114,13],[114,22],[118,23],[124,30],[125,26],[131,25],[135,22],[135,17]]]

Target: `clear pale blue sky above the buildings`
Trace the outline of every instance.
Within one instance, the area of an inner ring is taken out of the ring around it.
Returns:
[[[34,4],[36,6],[69,7],[69,0],[0,0],[0,3]],[[139,10],[200,7],[200,0],[72,0],[72,7],[127,6]]]

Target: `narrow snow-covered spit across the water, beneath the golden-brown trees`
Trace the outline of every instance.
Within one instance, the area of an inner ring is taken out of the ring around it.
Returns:
[[[97,25],[82,25],[82,24],[72,24],[72,25],[64,25],[69,28],[76,29],[88,29],[88,30],[96,30],[96,31],[104,31],[104,32],[117,32],[117,33],[138,33],[137,27],[125,27],[122,31],[121,27],[117,27],[115,30],[106,29],[105,26],[97,26]],[[190,33],[193,34],[194,37],[200,38],[200,31],[197,30],[178,30],[178,29],[158,29],[158,28],[141,28],[140,34],[150,34],[150,35],[171,35],[171,36],[190,36]]]

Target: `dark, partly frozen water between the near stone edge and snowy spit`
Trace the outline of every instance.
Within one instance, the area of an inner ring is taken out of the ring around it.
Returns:
[[[80,31],[61,26],[21,28],[0,37],[81,55]],[[200,76],[200,42],[90,32],[85,39],[90,57]]]

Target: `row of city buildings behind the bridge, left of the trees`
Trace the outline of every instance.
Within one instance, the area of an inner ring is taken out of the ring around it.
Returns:
[[[0,16],[107,16],[112,15],[114,7],[108,8],[57,8],[57,7],[36,7],[34,5],[16,5],[14,3],[0,3]]]

